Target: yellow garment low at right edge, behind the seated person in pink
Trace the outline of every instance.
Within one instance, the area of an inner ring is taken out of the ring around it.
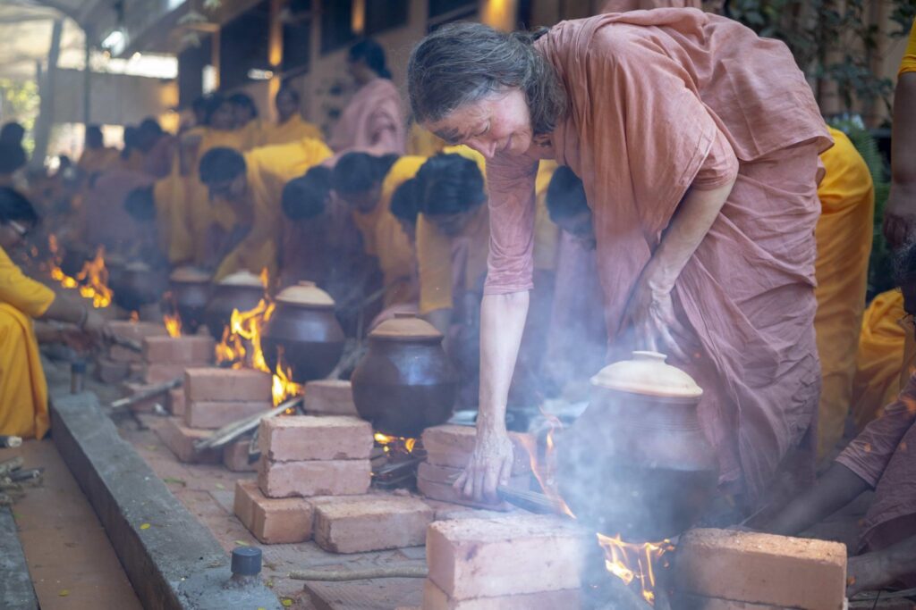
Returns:
[[[900,391],[900,363],[908,335],[900,321],[905,316],[903,294],[894,289],[878,294],[862,317],[852,398],[859,431],[878,417]]]

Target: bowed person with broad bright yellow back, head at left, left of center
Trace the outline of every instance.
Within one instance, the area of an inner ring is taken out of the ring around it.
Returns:
[[[283,187],[331,156],[327,145],[311,138],[245,155],[222,147],[203,155],[200,178],[214,207],[204,266],[214,270],[213,281],[264,268],[276,275]]]

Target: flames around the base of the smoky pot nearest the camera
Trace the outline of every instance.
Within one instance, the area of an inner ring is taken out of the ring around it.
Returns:
[[[535,441],[529,437],[522,437],[522,443],[526,445],[531,460],[531,471],[535,478],[538,479],[544,495],[551,498],[558,506],[562,507],[563,512],[569,517],[575,519],[573,510],[563,500],[556,485],[556,473],[554,472],[555,460],[551,459],[555,450],[553,442],[553,433],[562,430],[562,422],[550,413],[541,412],[547,418],[550,430],[545,440],[546,451],[544,459],[538,459],[538,447]],[[671,540],[662,540],[660,542],[645,542],[636,544],[626,542],[618,534],[611,538],[595,532],[598,538],[598,545],[605,551],[605,569],[608,573],[613,574],[625,584],[630,584],[634,580],[639,581],[643,599],[650,605],[655,605],[655,567],[660,565],[667,568],[668,562],[662,559],[666,552],[673,551],[674,545]]]

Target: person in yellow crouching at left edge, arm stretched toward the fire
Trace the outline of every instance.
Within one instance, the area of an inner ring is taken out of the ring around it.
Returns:
[[[10,259],[7,252],[23,244],[37,223],[27,198],[0,187],[0,434],[41,438],[50,425],[48,384],[33,319],[69,322],[95,337],[110,331],[89,305],[55,294]]]

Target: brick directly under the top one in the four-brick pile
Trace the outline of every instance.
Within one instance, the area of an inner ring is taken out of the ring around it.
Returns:
[[[257,468],[257,484],[268,498],[355,496],[371,482],[369,460],[269,462],[261,455]]]

